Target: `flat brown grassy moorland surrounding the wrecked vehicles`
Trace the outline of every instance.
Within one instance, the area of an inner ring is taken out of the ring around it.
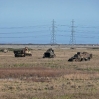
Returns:
[[[0,52],[0,99],[98,99],[99,49],[53,47],[55,58],[42,58],[47,48],[31,49],[32,56]],[[68,62],[77,52],[90,61]]]

